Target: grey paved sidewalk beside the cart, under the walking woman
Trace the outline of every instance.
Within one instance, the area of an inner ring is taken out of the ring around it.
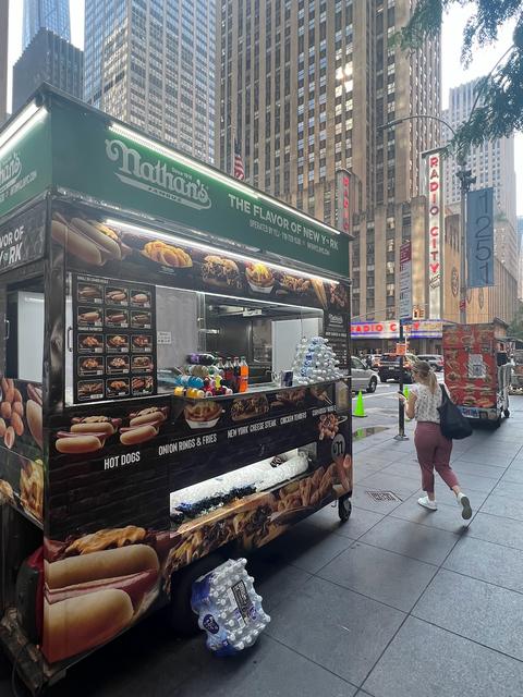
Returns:
[[[413,424],[405,442],[393,428],[364,438],[349,523],[325,509],[252,560],[272,616],[252,651],[216,659],[203,636],[177,641],[153,617],[51,695],[521,696],[523,398],[511,412],[497,431],[454,443],[470,524],[440,480],[439,510],[418,506]],[[368,490],[399,500],[374,501]]]

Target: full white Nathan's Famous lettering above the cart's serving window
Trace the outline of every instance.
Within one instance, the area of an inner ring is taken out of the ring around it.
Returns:
[[[198,179],[177,171],[160,160],[150,162],[122,140],[106,140],[106,155],[111,162],[118,163],[117,176],[127,186],[197,210],[212,205],[207,186]]]

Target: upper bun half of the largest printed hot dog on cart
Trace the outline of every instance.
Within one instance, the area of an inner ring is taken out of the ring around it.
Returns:
[[[58,562],[46,562],[46,583],[53,588],[115,576],[129,576],[147,568],[159,570],[158,555],[147,545],[130,545],[80,557],[69,557]]]

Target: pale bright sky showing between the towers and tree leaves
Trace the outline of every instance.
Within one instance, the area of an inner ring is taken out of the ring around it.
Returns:
[[[360,0],[362,1],[362,0]],[[363,0],[364,1],[364,0]],[[84,48],[84,0],[70,0],[71,40]],[[22,50],[22,0],[10,0],[9,61],[13,65]],[[443,22],[441,40],[442,107],[447,108],[449,88],[488,73],[511,44],[511,27],[500,32],[499,41],[474,50],[474,60],[467,71],[460,62],[461,38],[464,23],[471,13],[469,7],[454,7]],[[518,215],[523,216],[523,134],[515,136],[515,171],[518,179]]]

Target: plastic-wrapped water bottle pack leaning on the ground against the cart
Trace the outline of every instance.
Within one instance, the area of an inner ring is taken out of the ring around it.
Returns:
[[[217,656],[253,646],[270,622],[245,564],[245,559],[230,559],[193,584],[191,607],[207,634],[207,648]]]

